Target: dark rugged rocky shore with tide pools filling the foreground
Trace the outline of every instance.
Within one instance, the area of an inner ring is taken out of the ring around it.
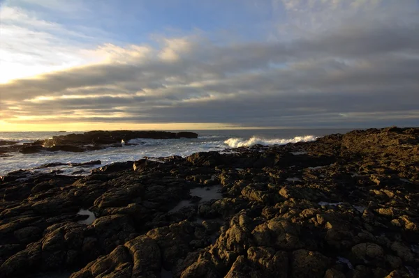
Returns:
[[[1,278],[419,275],[419,128],[15,171],[0,199]]]

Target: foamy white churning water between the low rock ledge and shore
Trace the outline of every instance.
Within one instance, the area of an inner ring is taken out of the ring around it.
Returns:
[[[68,133],[68,132],[67,132]],[[60,133],[47,133],[47,132],[18,132],[18,133],[1,133],[0,139],[16,139],[16,141],[35,141],[38,138],[49,138]],[[0,157],[0,175],[5,175],[10,171],[18,169],[33,169],[42,164],[51,162],[63,163],[82,163],[91,160],[101,160],[102,165],[110,164],[112,162],[124,162],[128,160],[139,160],[142,157],[168,157],[171,155],[180,155],[185,157],[197,152],[203,151],[218,151],[223,153],[226,148],[235,148],[239,146],[252,146],[254,144],[274,145],[274,144],[287,144],[295,143],[298,141],[312,141],[316,139],[314,135],[293,137],[291,134],[289,139],[286,134],[276,135],[277,139],[272,139],[272,134],[266,136],[271,139],[266,139],[263,136],[253,136],[251,133],[246,135],[240,134],[239,137],[235,134],[205,134],[196,139],[132,139],[124,142],[122,148],[105,148],[103,150],[87,151],[85,153],[69,153],[69,152],[41,152],[34,154],[22,153],[6,153],[6,156]],[[20,139],[17,139],[19,138]],[[230,138],[230,139],[228,139]],[[247,139],[245,139],[247,138]],[[250,139],[249,139],[250,138]],[[133,144],[133,145],[130,145]],[[135,145],[134,145],[135,144]],[[89,173],[92,167],[83,167],[85,171],[81,175]],[[64,171],[64,174],[72,174],[73,171],[78,171],[78,167],[70,167],[68,165],[50,167],[46,169],[37,169],[36,171]]]

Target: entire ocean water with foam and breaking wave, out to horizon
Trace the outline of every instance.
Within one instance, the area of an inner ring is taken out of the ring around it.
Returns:
[[[101,160],[101,165],[83,168],[85,175],[92,168],[101,167],[112,162],[140,160],[143,157],[167,157],[170,155],[187,156],[201,151],[223,152],[226,148],[266,146],[295,143],[298,141],[313,141],[333,133],[346,133],[352,129],[281,129],[281,130],[189,130],[199,134],[197,139],[133,139],[126,143],[136,143],[137,146],[122,148],[105,148],[85,153],[41,152],[34,154],[7,153],[10,156],[0,157],[0,176],[19,169],[34,169],[42,164],[52,162],[81,163],[91,160]],[[174,131],[175,132],[175,131]],[[19,144],[29,143],[37,139],[52,138],[56,135],[82,132],[0,132],[0,140],[18,141]],[[63,174],[73,174],[78,170],[68,165],[37,169],[36,171],[61,170]]]

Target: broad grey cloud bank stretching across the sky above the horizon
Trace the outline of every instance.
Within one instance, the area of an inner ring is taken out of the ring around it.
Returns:
[[[0,84],[1,117],[9,123],[409,125],[419,120],[419,20],[406,10],[411,2],[384,2],[274,2],[288,16],[309,15],[307,22],[326,11],[358,15],[324,29],[328,17],[284,40],[220,43],[200,32],[83,49],[100,59]],[[288,23],[296,22],[304,23]]]

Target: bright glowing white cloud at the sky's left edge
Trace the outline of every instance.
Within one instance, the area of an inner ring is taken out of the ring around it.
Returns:
[[[91,52],[89,43],[100,41],[98,36],[42,20],[17,6],[1,5],[0,18],[0,83],[106,59],[101,52]]]

